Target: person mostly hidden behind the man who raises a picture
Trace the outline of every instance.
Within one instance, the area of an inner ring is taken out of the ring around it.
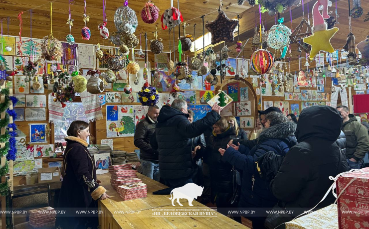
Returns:
[[[189,123],[193,122],[193,112],[187,110]],[[198,186],[203,185],[202,176],[202,154],[205,151],[206,143],[203,134],[192,138],[192,157],[193,157],[193,174],[192,181]]]

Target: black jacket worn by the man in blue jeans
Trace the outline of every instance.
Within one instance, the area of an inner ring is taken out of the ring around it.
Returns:
[[[148,115],[136,126],[134,144],[140,149],[140,158],[158,163],[159,153],[150,145],[150,139],[155,132],[157,122],[152,122]]]

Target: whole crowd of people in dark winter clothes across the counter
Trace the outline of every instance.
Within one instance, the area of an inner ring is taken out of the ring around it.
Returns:
[[[253,229],[282,229],[303,211],[334,202],[333,195],[324,198],[332,185],[329,176],[366,165],[368,128],[345,106],[310,107],[299,119],[270,107],[258,111],[249,136],[234,116],[222,117],[220,110],[215,104],[193,121],[182,99],[160,111],[149,108],[134,142],[143,174],[169,186],[154,194],[195,183],[204,187],[200,202],[215,204],[218,212],[241,222],[242,214],[227,210],[253,209],[256,214],[245,215]],[[294,211],[267,214],[281,209]]]

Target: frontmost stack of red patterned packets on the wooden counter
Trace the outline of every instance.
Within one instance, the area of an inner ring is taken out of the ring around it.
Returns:
[[[124,184],[117,187],[117,192],[123,201],[147,197],[147,185],[142,182]]]

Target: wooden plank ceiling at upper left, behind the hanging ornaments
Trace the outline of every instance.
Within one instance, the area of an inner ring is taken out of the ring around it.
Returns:
[[[50,33],[50,1],[51,0],[1,0],[1,17],[6,18],[10,16],[9,35],[17,36],[19,33],[19,20],[17,15],[19,11],[24,11],[22,15],[23,29],[22,36],[30,36],[30,13],[26,11],[30,8],[33,9],[32,14],[32,37],[42,38]],[[144,34],[148,32],[148,39],[154,39],[153,32],[158,27],[158,38],[163,39],[165,51],[169,51],[169,31],[163,30],[161,26],[160,17],[163,12],[170,8],[170,0],[154,0],[153,2],[159,7],[159,19],[155,24],[146,24],[141,19],[141,10],[147,0],[129,0],[129,7],[135,10],[138,18],[138,28],[135,32],[137,37],[142,34],[143,48],[145,48]],[[91,30],[91,39],[86,41],[82,40],[81,28],[84,27],[82,15],[84,13],[84,1],[75,0],[70,6],[71,17],[74,19],[72,27],[72,35],[79,43],[90,43],[101,45],[108,45],[107,40],[101,38],[98,25],[103,21],[103,5],[102,0],[86,0],[86,14],[90,16],[90,21],[87,27]],[[209,13],[205,16],[205,21],[212,21],[217,16],[217,9],[219,6],[219,0],[180,0],[180,11],[183,15],[184,21],[189,26],[186,28],[186,33],[193,34],[193,25],[196,23],[196,36],[202,35],[202,18],[201,15]],[[124,0],[106,0],[106,16],[107,16],[107,27],[109,32],[116,31],[114,26],[114,13],[116,9],[122,6]],[[174,6],[178,7],[178,3],[175,0]],[[229,18],[237,17],[237,14],[241,14],[251,6],[248,4],[239,6],[237,0],[224,0],[223,10],[226,12]],[[52,30],[53,36],[60,41],[65,41],[65,37],[69,34],[69,26],[66,24],[69,18],[69,4],[68,0],[54,0],[52,4]],[[6,19],[3,21],[4,34],[6,33]],[[182,29],[182,28],[181,28]],[[176,27],[176,36],[178,37],[178,27]],[[181,30],[183,34],[183,30]],[[173,40],[173,31],[171,39]],[[111,44],[113,45],[113,44]],[[149,43],[150,45],[150,43]],[[172,42],[173,46],[173,42]],[[173,48],[172,48],[173,50]]]

